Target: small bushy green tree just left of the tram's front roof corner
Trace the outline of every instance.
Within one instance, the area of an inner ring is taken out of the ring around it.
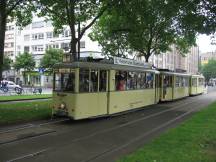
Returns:
[[[48,49],[45,52],[45,55],[41,59],[40,67],[45,68],[49,72],[53,71],[53,66],[56,63],[62,62],[63,50],[60,49]]]

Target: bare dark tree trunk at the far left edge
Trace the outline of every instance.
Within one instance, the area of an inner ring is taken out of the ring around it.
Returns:
[[[4,41],[6,30],[6,0],[0,2],[0,80],[2,80],[3,58],[4,58]]]

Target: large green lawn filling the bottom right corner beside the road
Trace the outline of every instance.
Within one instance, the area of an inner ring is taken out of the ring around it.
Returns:
[[[118,162],[216,162],[216,103]]]

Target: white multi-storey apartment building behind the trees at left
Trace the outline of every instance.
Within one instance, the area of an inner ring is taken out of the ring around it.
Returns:
[[[84,57],[89,54],[99,56],[100,47],[96,42],[90,40],[88,34],[87,31],[80,41],[81,56]],[[52,77],[38,73],[37,67],[48,48],[63,49],[68,52],[70,36],[68,27],[65,27],[62,33],[55,34],[51,21],[46,21],[44,18],[34,17],[32,23],[23,29],[17,27],[15,23],[8,23],[5,33],[5,55],[15,61],[16,56],[20,53],[31,53],[36,61],[36,69],[27,75],[28,82],[34,85],[51,86]],[[11,72],[4,72],[3,75],[15,82],[23,81],[22,72],[12,70]]]

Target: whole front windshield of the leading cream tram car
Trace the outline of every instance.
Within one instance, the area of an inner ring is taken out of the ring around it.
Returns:
[[[55,91],[74,92],[75,91],[75,72],[58,72],[55,73]]]

